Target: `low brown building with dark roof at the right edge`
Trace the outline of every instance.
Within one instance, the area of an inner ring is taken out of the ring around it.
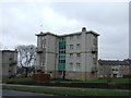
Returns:
[[[130,76],[131,60],[98,60],[99,77],[126,77]]]

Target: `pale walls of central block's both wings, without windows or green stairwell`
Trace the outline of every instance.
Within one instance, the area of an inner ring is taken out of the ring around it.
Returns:
[[[47,73],[51,73],[52,77],[58,76],[58,61],[59,61],[59,38],[50,35],[46,35],[46,66],[44,70]],[[43,35],[40,35],[43,37]],[[41,47],[40,40],[43,39],[38,36],[37,47]],[[73,39],[70,37],[73,36]],[[80,38],[78,37],[80,36]],[[92,53],[93,47],[97,47],[97,44],[94,45],[94,39],[97,42],[97,36],[94,36],[92,33],[78,33],[74,35],[62,36],[66,37],[66,78],[68,79],[94,79],[96,78],[96,72],[92,73],[93,69],[97,66],[97,51],[95,52],[96,58],[94,59],[94,53]],[[76,45],[80,44],[78,49]],[[70,49],[70,45],[73,45],[73,49]],[[70,57],[70,53],[73,57]],[[78,58],[76,54],[80,53],[81,57]],[[36,65],[39,64],[40,54],[37,53]],[[96,61],[96,63],[94,63]],[[71,68],[70,63],[73,63]],[[80,63],[80,66],[76,65]],[[71,77],[71,75],[75,75]]]

